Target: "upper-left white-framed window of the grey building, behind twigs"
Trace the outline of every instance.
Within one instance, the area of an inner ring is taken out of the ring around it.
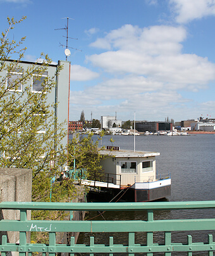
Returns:
[[[17,69],[15,72],[9,72],[6,80],[6,89],[9,91],[20,91],[22,92],[22,80],[23,70]]]

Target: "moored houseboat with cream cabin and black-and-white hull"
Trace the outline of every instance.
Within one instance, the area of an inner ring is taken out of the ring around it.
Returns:
[[[127,202],[150,202],[171,195],[170,174],[156,173],[156,157],[160,153],[107,148],[99,151],[101,155],[108,155],[101,160],[104,174],[108,177],[107,186],[101,187],[99,193],[91,189],[93,198],[102,196],[100,202],[104,202],[119,195],[118,198]]]

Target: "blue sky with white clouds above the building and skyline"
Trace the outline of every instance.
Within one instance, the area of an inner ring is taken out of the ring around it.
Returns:
[[[0,0],[23,60],[71,55],[70,120],[215,118],[215,0]],[[63,29],[63,30],[55,30]],[[75,48],[75,49],[72,49]]]

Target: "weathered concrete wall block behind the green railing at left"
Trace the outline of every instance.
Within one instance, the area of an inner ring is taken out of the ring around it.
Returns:
[[[0,168],[0,202],[32,201],[32,170],[16,168]],[[30,211],[27,212],[30,219]],[[20,219],[20,210],[1,210],[0,219]],[[3,234],[8,234],[8,242],[19,240],[18,232],[0,232],[0,244]],[[29,239],[29,238],[28,238]],[[13,253],[13,255],[15,255]]]

